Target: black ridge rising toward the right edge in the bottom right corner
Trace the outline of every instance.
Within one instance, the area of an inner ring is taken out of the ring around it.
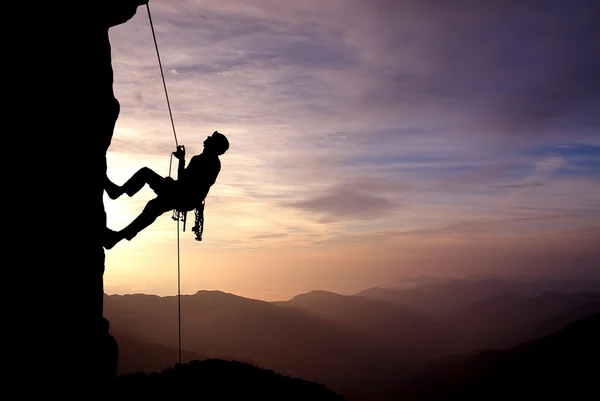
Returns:
[[[595,314],[507,350],[432,362],[390,400],[598,399],[599,339]]]

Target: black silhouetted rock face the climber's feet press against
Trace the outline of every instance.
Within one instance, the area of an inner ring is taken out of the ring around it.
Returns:
[[[37,361],[46,393],[97,393],[116,375],[117,345],[102,311],[106,151],[119,115],[108,31],[146,2],[29,3],[14,13],[8,55],[21,68],[8,83],[9,113],[26,147],[10,152],[19,152],[12,201],[35,216],[18,223],[14,240],[28,300],[15,308],[15,338],[18,359]]]

